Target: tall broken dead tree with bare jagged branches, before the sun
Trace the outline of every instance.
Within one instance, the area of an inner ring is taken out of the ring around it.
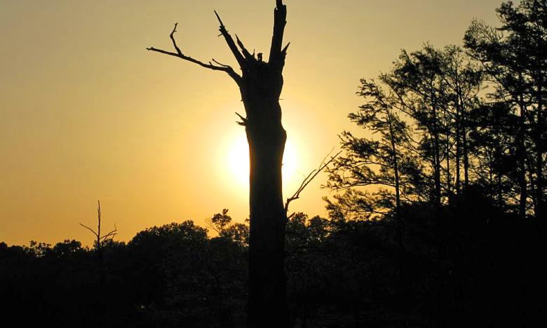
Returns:
[[[276,0],[274,34],[267,62],[262,59],[262,53],[249,53],[237,35],[234,41],[216,11],[215,15],[220,22],[220,35],[236,57],[241,74],[214,59],[201,62],[185,55],[173,37],[177,24],[170,34],[175,52],[152,47],[147,50],[223,71],[237,83],[246,114],[246,117],[238,114],[241,118],[238,124],[245,126],[250,154],[248,327],[288,327],[284,272],[287,214],[281,182],[287,134],[281,124],[279,104],[289,46],[282,46],[287,8],[283,0]]]

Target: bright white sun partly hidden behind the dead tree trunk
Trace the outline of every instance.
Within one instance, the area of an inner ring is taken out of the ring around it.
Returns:
[[[245,135],[237,137],[227,153],[227,163],[232,175],[231,181],[242,186],[249,184],[249,146]],[[290,181],[297,168],[297,153],[292,143],[287,140],[283,153],[283,184]]]

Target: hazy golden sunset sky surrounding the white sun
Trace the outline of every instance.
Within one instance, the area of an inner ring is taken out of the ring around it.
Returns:
[[[460,44],[472,18],[497,25],[499,0],[286,0],[291,42],[281,105],[297,152],[285,197],[355,128],[359,78],[401,48]],[[193,57],[234,64],[213,9],[248,48],[267,53],[275,1],[0,0],[0,241],[58,242],[104,228],[119,240],[222,208],[248,216],[248,187],[229,151],[244,135],[230,78],[158,55],[175,34]],[[233,156],[232,156],[233,157]],[[233,166],[233,165],[232,165]],[[292,210],[323,214],[320,176]]]

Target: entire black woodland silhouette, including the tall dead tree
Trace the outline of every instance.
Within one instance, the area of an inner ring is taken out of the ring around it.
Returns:
[[[327,162],[326,218],[288,216],[281,201],[282,1],[269,62],[218,18],[242,76],[183,55],[175,25],[176,53],[149,50],[224,71],[241,89],[250,220],[232,223],[223,210],[208,221],[216,237],[184,221],[127,243],[94,232],[93,248],[0,243],[4,321],[541,327],[547,3],[504,2],[497,13],[500,27],[474,20],[463,46],[402,50],[388,72],[360,81],[363,105],[349,114],[359,129],[342,132],[342,154]]]

